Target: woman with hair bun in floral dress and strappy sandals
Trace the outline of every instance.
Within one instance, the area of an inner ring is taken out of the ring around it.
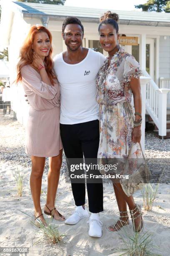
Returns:
[[[118,15],[108,11],[100,18],[100,44],[108,56],[97,75],[97,102],[100,105],[100,145],[98,158],[127,159],[132,143],[132,156],[140,157],[142,99],[140,65],[118,44]],[[134,108],[131,105],[133,93]],[[134,127],[135,126],[135,127]],[[113,181],[112,181],[113,182]],[[113,182],[120,218],[110,231],[129,224],[127,204],[135,232],[143,229],[140,205],[135,204],[120,183]]]

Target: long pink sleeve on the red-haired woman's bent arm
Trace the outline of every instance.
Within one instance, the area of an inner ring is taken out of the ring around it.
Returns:
[[[57,94],[57,88],[55,86],[45,84],[36,74],[36,71],[31,67],[24,66],[21,68],[22,82],[28,88],[29,91],[34,92],[46,100],[54,99]]]

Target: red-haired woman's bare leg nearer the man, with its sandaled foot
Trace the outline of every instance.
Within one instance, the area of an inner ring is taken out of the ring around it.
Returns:
[[[55,197],[57,193],[58,182],[60,179],[60,169],[62,164],[62,149],[58,156],[50,157],[49,158],[49,171],[48,171],[48,186],[47,186],[47,207],[52,210],[55,206]],[[45,206],[44,210],[46,212],[50,212]],[[57,210],[53,210],[52,214],[54,215],[55,219],[60,219],[60,216]],[[64,220],[65,218],[61,218]]]

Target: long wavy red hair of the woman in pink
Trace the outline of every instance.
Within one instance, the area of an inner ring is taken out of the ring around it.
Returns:
[[[30,28],[28,36],[25,38],[23,46],[20,49],[20,61],[17,64],[17,79],[15,81],[17,84],[18,84],[18,82],[22,81],[21,68],[25,65],[31,64],[33,61],[32,44],[33,44],[33,41],[35,38],[35,34],[40,33],[40,32],[47,33],[47,35],[50,39],[50,44],[52,44],[52,35],[47,28],[45,28],[43,26],[32,26]],[[50,48],[48,56],[45,57],[44,63],[45,63],[45,70],[50,79],[50,82],[52,85],[54,85],[54,79],[57,79],[57,78],[53,71],[53,61],[52,61],[51,55],[52,55],[52,46]]]

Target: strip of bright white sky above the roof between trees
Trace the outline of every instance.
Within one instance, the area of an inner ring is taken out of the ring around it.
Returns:
[[[144,4],[147,0],[66,0],[65,5],[108,10],[140,10],[134,5]]]

